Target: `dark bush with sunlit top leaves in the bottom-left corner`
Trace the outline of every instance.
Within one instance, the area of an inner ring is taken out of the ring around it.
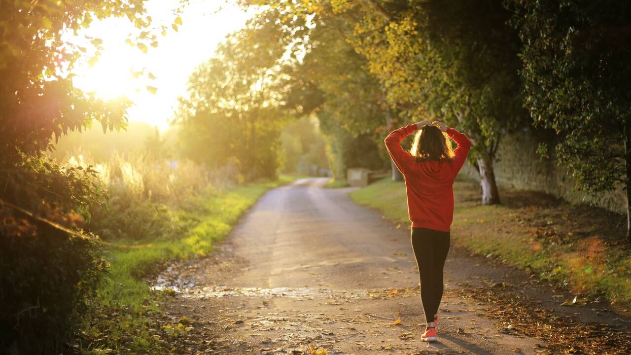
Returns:
[[[93,237],[70,229],[89,219],[105,195],[89,166],[60,166],[15,149],[3,153],[0,352],[59,354],[105,267]]]

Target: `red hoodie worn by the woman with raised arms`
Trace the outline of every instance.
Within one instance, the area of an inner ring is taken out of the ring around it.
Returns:
[[[417,162],[415,157],[401,148],[403,138],[411,135],[416,129],[418,127],[414,123],[392,131],[386,137],[386,148],[394,164],[405,177],[408,215],[412,227],[449,232],[454,219],[454,179],[463,167],[471,148],[471,141],[463,133],[449,127],[447,135],[458,145],[454,150],[456,157],[453,162]]]

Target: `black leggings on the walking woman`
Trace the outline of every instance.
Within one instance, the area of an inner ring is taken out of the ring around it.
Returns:
[[[412,228],[412,250],[421,279],[421,301],[425,320],[433,322],[442,299],[442,270],[449,252],[449,232]]]

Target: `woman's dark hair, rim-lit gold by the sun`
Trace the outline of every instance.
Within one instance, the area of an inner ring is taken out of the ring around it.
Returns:
[[[436,126],[423,126],[418,130],[410,153],[418,162],[425,160],[452,162],[454,159],[451,138]]]

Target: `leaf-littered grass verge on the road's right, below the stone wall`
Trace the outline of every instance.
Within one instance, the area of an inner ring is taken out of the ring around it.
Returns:
[[[401,226],[410,225],[402,182],[383,179],[350,196]],[[478,184],[457,180],[452,241],[568,287],[582,301],[604,298],[627,313],[631,248],[624,241],[623,216],[536,191],[500,188],[500,199],[500,205],[483,206]]]

